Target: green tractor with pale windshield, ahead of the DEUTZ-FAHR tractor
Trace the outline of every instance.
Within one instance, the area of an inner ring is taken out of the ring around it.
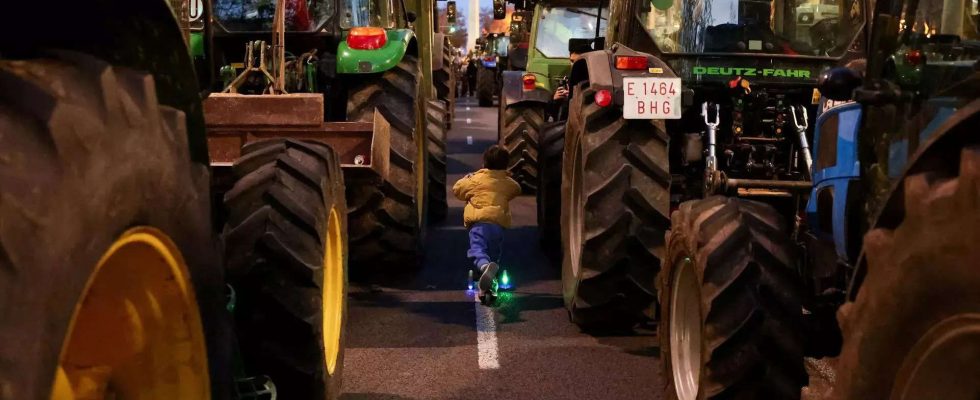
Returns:
[[[497,126],[500,144],[510,151],[508,168],[525,194],[534,194],[539,186],[545,125],[563,119],[551,103],[571,70],[569,42],[582,39],[593,46],[605,34],[608,9],[598,1],[543,1],[535,4],[531,20],[524,71],[504,71],[501,76]],[[549,127],[559,125],[564,124]]]

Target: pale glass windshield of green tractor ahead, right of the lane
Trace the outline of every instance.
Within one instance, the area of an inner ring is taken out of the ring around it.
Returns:
[[[534,48],[548,58],[568,58],[568,39],[593,39],[598,25],[599,36],[606,36],[609,9],[545,7],[541,10]]]

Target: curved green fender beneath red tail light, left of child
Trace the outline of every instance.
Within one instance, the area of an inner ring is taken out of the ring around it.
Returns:
[[[388,29],[388,41],[376,50],[357,50],[347,46],[347,31],[337,46],[337,73],[370,74],[384,72],[405,56],[408,44],[415,38],[410,29]]]

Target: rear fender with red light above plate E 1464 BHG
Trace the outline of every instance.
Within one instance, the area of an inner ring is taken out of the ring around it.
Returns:
[[[644,56],[648,68],[645,70],[618,70],[616,56]],[[663,60],[649,53],[635,51],[616,43],[607,50],[588,52],[572,65],[568,86],[574,88],[580,82],[588,81],[590,86],[608,89],[613,93],[613,102],[623,105],[624,77],[676,78],[677,74]]]

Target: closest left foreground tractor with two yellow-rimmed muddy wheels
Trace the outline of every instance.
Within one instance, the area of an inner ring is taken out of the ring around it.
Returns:
[[[342,152],[250,143],[233,167],[246,178],[213,205],[222,147],[180,14],[52,1],[0,17],[20,36],[0,43],[5,398],[340,395]]]

